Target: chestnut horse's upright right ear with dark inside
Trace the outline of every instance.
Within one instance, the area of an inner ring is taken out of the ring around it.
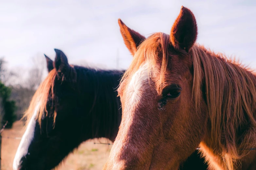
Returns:
[[[179,16],[172,26],[170,41],[175,49],[183,49],[188,52],[196,42],[196,37],[196,18],[188,8],[182,6]]]

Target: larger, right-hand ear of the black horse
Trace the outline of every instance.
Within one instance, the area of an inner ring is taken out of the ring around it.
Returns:
[[[70,65],[68,64],[68,59],[66,55],[58,49],[54,49],[56,52],[56,57],[54,61],[54,67],[60,77],[63,78],[64,75],[69,74]]]

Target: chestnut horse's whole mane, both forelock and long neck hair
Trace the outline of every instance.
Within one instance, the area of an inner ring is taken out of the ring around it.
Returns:
[[[149,61],[149,69],[161,66],[161,84],[168,60],[169,35],[156,33],[139,46],[122,81],[140,65]],[[159,52],[163,54],[159,63]],[[210,116],[211,142],[219,148],[226,168],[233,169],[255,147],[256,142],[256,77],[251,70],[221,53],[214,53],[195,44],[189,53],[193,60],[193,98],[197,111],[200,99],[205,98]],[[150,75],[149,75],[150,76]],[[213,148],[213,149],[214,149]]]

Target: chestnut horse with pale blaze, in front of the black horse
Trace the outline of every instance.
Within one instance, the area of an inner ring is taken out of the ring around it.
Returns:
[[[210,169],[256,169],[256,76],[195,44],[181,7],[170,35],[143,42],[119,20],[133,61],[118,93],[123,115],[105,169],[178,169],[200,146]]]

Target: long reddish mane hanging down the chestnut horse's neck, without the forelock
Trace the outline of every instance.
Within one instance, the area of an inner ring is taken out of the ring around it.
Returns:
[[[212,143],[220,148],[226,168],[233,169],[233,163],[255,147],[256,77],[242,64],[203,46],[194,46],[190,55],[196,63],[195,87],[205,85]]]

